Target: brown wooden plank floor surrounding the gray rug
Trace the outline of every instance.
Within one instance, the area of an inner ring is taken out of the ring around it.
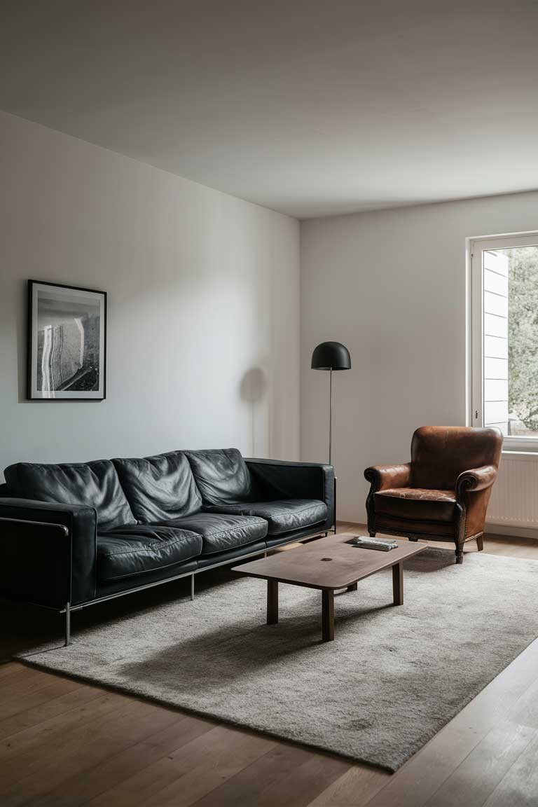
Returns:
[[[0,805],[538,807],[538,640],[394,775],[7,663]]]

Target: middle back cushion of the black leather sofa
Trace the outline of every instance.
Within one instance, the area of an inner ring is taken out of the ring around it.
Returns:
[[[112,462],[140,524],[190,516],[202,507],[189,461],[181,451]]]

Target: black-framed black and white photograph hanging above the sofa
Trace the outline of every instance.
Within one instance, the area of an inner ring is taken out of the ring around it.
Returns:
[[[102,400],[106,291],[28,281],[28,398]]]

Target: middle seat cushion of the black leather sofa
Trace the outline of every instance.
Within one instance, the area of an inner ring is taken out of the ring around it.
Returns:
[[[267,521],[262,518],[245,518],[229,513],[197,512],[194,516],[177,518],[168,523],[201,535],[202,555],[252,544],[267,535]]]

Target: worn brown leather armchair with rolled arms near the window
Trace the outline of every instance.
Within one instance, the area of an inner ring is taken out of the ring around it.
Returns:
[[[498,429],[422,426],[411,441],[411,462],[366,468],[371,483],[366,510],[370,535],[402,535],[411,541],[463,545],[483,533],[491,487],[503,447]]]

